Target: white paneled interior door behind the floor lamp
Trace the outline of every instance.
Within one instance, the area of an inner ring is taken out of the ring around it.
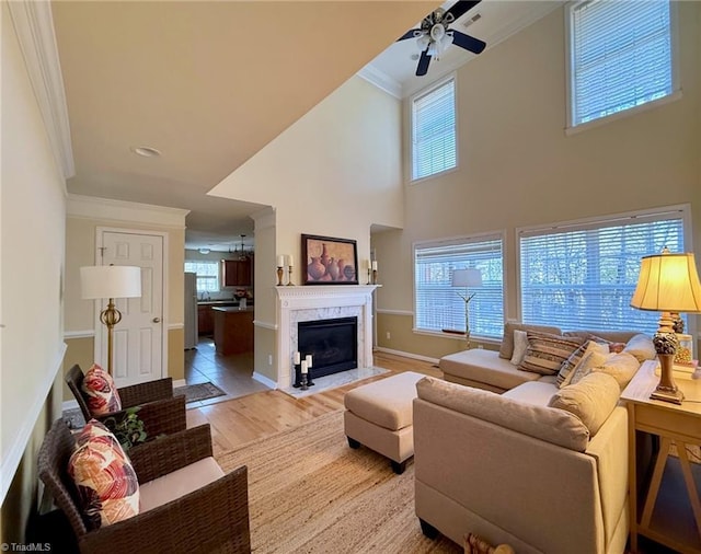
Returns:
[[[100,239],[100,238],[99,238]],[[100,240],[99,240],[100,243]],[[115,299],[122,321],[113,330],[113,373],[117,386],[165,374],[163,368],[163,236],[131,232],[102,232],[102,264],[141,268],[141,297]],[[104,307],[103,307],[104,308]],[[107,332],[100,328],[96,359],[106,367]]]

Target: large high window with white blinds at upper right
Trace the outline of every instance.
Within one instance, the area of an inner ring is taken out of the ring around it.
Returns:
[[[670,19],[666,0],[572,4],[573,127],[674,92]]]

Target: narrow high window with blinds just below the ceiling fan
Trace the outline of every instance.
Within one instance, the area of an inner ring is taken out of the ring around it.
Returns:
[[[456,82],[448,79],[412,100],[412,180],[457,165]]]

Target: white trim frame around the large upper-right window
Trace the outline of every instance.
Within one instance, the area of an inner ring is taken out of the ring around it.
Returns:
[[[631,107],[629,109],[624,109],[623,112],[618,112],[616,114],[607,115],[604,117],[599,117],[594,119],[593,122],[587,122],[579,125],[572,124],[572,91],[573,91],[573,80],[574,76],[572,73],[572,66],[574,65],[573,60],[573,34],[572,34],[572,10],[587,0],[577,0],[574,2],[568,2],[564,9],[564,18],[565,18],[565,109],[566,109],[566,126],[565,126],[565,136],[570,137],[572,135],[576,135],[582,131],[586,131],[596,127],[600,127],[601,125],[607,125],[609,123],[618,122],[625,117],[635,116],[643,112],[647,112],[650,109],[655,109],[659,106],[664,106],[671,102],[677,102],[682,97],[681,91],[681,79],[679,76],[679,8],[677,5],[676,0],[671,0],[669,2],[669,32],[671,33],[671,94],[665,96],[664,99],[654,100],[652,102],[647,102],[641,106]],[[686,222],[685,222],[686,224]]]

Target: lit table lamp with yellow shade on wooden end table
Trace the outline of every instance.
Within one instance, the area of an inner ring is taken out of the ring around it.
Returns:
[[[653,336],[659,358],[659,384],[650,397],[681,404],[683,394],[673,374],[679,344],[675,319],[678,312],[701,312],[701,284],[693,254],[670,254],[664,249],[662,254],[644,256],[631,305],[662,312]]]

